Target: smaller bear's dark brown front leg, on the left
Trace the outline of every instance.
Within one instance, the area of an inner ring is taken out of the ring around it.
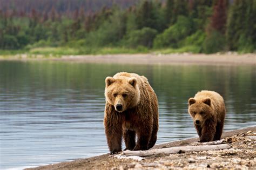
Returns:
[[[200,142],[212,141],[216,132],[216,123],[214,121],[206,121],[202,127]]]

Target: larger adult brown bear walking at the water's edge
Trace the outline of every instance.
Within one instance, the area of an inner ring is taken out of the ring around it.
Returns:
[[[122,137],[125,150],[153,147],[157,141],[158,100],[147,78],[120,72],[105,82],[104,126],[110,154],[122,151]]]

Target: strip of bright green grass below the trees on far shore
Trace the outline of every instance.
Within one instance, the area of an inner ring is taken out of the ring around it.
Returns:
[[[28,57],[33,58],[37,55],[44,57],[60,57],[64,55],[113,55],[113,54],[134,54],[134,53],[183,53],[192,52],[199,53],[200,47],[197,46],[184,46],[179,49],[147,49],[146,47],[139,46],[137,49],[129,49],[125,47],[34,47],[28,50],[0,50],[0,56],[14,56],[26,54]]]

